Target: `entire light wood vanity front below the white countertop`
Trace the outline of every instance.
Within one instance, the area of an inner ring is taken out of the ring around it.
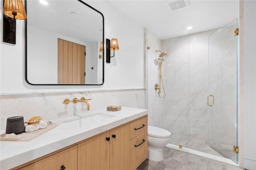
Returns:
[[[12,170],[134,170],[148,155],[147,128],[146,115]]]

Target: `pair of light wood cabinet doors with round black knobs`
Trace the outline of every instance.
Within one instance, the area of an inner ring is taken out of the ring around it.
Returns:
[[[78,144],[78,170],[130,170],[130,125]]]

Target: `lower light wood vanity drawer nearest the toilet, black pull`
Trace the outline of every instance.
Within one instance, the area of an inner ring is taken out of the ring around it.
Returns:
[[[148,131],[130,140],[130,169],[136,168],[148,156]]]

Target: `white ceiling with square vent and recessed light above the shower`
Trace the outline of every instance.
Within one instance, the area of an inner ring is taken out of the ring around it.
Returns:
[[[160,39],[221,28],[238,18],[239,0],[110,0]],[[172,10],[169,4],[179,8]],[[182,7],[185,6],[185,7]],[[182,7],[182,8],[180,8]]]

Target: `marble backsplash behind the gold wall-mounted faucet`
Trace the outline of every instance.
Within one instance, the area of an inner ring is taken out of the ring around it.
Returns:
[[[84,97],[90,104],[90,111],[104,109],[106,106],[124,106],[145,109],[145,90],[104,90],[92,92],[63,92],[41,94],[1,95],[1,127],[6,128],[8,117],[22,115],[24,121],[40,115],[44,120],[67,117],[87,112],[85,103],[62,104],[68,98]]]

